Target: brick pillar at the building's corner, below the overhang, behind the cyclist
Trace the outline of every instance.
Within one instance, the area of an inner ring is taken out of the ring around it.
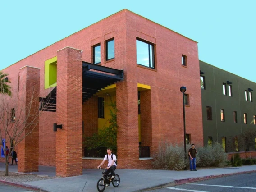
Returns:
[[[116,84],[118,167],[138,169],[139,128],[137,82]]]

